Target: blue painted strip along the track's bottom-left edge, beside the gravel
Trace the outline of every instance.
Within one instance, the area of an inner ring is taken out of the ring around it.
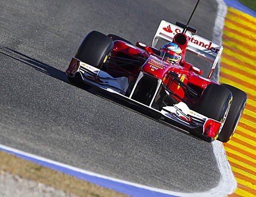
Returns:
[[[54,169],[54,170],[58,170],[62,173],[65,173],[65,174],[68,174],[68,175],[71,175],[71,176],[75,176],[78,179],[89,181],[89,182],[94,183],[96,185],[99,185],[99,186],[102,186],[102,187],[105,187],[105,188],[109,188],[109,189],[113,189],[117,192],[127,194],[127,195],[130,195],[130,196],[136,196],[136,197],[144,197],[144,196],[148,196],[148,197],[156,197],[156,196],[159,196],[159,197],[178,197],[178,196],[175,196],[175,195],[163,194],[163,193],[160,193],[160,192],[155,192],[153,190],[139,188],[139,187],[136,187],[136,186],[126,185],[125,183],[104,179],[103,177],[97,177],[97,176],[89,175],[89,174],[82,173],[82,172],[79,172],[79,171],[76,171],[76,170],[72,170],[72,169],[69,169],[69,168],[58,166],[57,164],[42,161],[42,160],[39,160],[39,159],[34,158],[34,157],[26,156],[26,155],[17,153],[15,151],[5,150],[3,148],[0,148],[0,150],[8,152],[8,153],[13,154],[13,155],[16,155],[16,156],[18,156],[20,158],[23,158],[25,160],[32,161],[34,163],[40,164],[41,166],[51,168],[51,169]]]

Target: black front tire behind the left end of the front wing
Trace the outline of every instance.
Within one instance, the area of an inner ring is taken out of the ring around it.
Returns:
[[[110,37],[99,31],[89,33],[77,50],[75,58],[96,68],[101,68],[113,49]]]

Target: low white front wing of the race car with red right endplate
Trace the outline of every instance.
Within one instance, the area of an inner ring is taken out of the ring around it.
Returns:
[[[205,137],[216,139],[220,132],[220,128],[222,128],[221,122],[190,110],[189,107],[182,102],[173,106],[164,106],[161,111],[154,109],[151,105],[155,99],[157,91],[159,90],[161,80],[158,81],[155,95],[149,106],[132,99],[132,94],[136,89],[138,81],[144,76],[144,73],[142,72],[138,75],[135,86],[133,87],[129,97],[125,96],[129,86],[128,79],[126,77],[113,78],[108,73],[88,65],[87,63],[81,62],[76,58],[72,58],[68,69],[66,69],[66,74],[69,75],[69,77],[75,77],[76,74],[80,74],[82,80],[87,84],[101,88],[101,90],[114,93],[115,96],[129,101],[148,112],[158,114],[161,119],[164,119],[164,121],[189,132],[200,132]]]

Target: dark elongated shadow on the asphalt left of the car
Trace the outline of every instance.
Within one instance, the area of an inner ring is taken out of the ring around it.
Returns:
[[[60,71],[57,68],[54,68],[50,65],[47,65],[44,62],[41,62],[39,60],[36,60],[34,58],[31,58],[25,54],[22,54],[20,52],[17,52],[14,49],[10,49],[5,47],[4,49],[1,48],[0,51],[1,54],[8,56],[9,58],[13,58],[17,61],[20,61],[22,63],[25,63],[28,66],[31,66],[36,69],[36,71],[42,72],[44,74],[50,75],[51,77],[54,77],[56,79],[68,82],[68,78],[66,77],[65,72]]]

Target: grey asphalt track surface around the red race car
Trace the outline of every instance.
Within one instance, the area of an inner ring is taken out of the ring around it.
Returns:
[[[2,0],[0,144],[175,192],[217,186],[210,143],[75,87],[64,73],[90,31],[150,45],[161,20],[186,23],[194,4]],[[198,35],[212,39],[216,11],[215,1],[199,4]]]

